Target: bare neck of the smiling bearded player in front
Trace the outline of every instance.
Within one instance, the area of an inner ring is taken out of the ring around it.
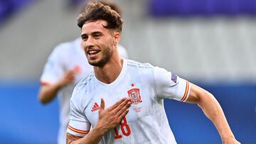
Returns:
[[[110,62],[107,62],[107,64],[102,67],[93,67],[95,76],[100,82],[110,84],[114,82],[121,73],[123,62],[124,60],[121,57],[117,57],[115,59],[112,58]]]

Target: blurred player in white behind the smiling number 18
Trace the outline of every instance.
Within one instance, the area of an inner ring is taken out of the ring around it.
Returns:
[[[121,13],[117,4],[109,1],[102,2],[117,13]],[[47,104],[58,95],[60,104],[59,144],[65,143],[70,116],[70,97],[73,89],[82,77],[86,77],[92,72],[92,66],[88,64],[81,44],[81,38],[77,38],[56,46],[48,57],[41,76],[41,88],[38,94],[41,103]],[[127,50],[122,45],[118,45],[118,51],[122,57],[128,58]]]

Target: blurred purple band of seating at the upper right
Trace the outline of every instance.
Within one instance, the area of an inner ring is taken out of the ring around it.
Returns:
[[[151,0],[154,16],[255,15],[255,0]]]

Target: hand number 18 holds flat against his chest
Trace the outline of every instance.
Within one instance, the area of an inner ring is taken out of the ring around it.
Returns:
[[[129,112],[129,106],[132,104],[130,101],[131,99],[123,98],[105,109],[105,101],[101,99],[97,126],[105,132],[117,127],[120,121],[122,121],[124,116]]]

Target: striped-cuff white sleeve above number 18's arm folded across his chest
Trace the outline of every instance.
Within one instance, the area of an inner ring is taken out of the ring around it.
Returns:
[[[82,104],[76,99],[78,92],[74,90],[73,96],[70,99],[70,123],[67,132],[77,136],[85,136],[90,131],[90,122],[87,120],[85,113],[82,112]]]

